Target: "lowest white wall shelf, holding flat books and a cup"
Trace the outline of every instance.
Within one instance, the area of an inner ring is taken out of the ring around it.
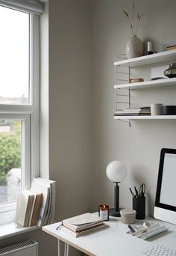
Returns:
[[[131,115],[131,116],[114,116],[116,120],[166,120],[176,119],[176,115]]]

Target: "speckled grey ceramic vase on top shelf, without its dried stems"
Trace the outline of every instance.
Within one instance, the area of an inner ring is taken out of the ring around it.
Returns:
[[[125,53],[127,58],[136,58],[142,56],[144,52],[143,43],[139,37],[134,34],[126,43]]]

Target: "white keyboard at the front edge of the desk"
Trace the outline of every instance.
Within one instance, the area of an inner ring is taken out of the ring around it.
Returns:
[[[176,252],[172,249],[154,243],[142,249],[141,253],[148,256],[176,256]]]

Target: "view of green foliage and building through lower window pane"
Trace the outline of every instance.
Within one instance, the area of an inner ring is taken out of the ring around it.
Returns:
[[[0,204],[16,201],[22,180],[22,121],[0,121]]]

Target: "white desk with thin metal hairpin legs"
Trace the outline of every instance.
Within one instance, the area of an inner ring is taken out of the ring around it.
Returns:
[[[72,236],[72,234],[67,234],[62,229],[57,231],[56,228],[61,222],[44,226],[43,231],[57,238],[58,256],[60,256],[60,241],[65,243],[64,256],[69,256],[69,246],[73,246],[91,256],[142,256],[140,250],[151,243],[157,243],[176,251],[176,225],[161,222],[157,219],[147,218],[147,220],[165,225],[169,228],[169,231],[164,231],[148,240],[141,240],[126,234],[128,225],[123,224],[120,218],[116,217],[110,217],[110,221],[107,222],[110,228],[103,228],[78,238]],[[136,224],[142,223],[143,221],[136,221]]]

